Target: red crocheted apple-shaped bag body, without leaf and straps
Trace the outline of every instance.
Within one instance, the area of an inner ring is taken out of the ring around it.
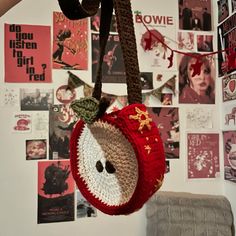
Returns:
[[[163,181],[162,141],[143,104],[105,114],[91,125],[80,120],[71,135],[70,155],[81,193],[110,215],[140,209]]]

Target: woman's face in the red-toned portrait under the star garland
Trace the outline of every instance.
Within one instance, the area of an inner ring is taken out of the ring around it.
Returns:
[[[208,63],[205,62],[201,66],[200,74],[192,76],[194,72],[192,64],[195,62],[196,59],[192,59],[188,64],[189,85],[198,95],[203,95],[211,82],[211,69]]]

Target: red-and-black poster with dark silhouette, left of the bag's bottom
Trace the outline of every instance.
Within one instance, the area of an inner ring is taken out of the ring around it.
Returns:
[[[69,161],[38,162],[38,224],[74,220],[74,186]]]

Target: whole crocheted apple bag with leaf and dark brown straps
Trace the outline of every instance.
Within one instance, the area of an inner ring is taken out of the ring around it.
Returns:
[[[70,139],[72,174],[83,196],[109,215],[130,214],[161,187],[165,173],[163,143],[142,104],[131,3],[129,0],[59,0],[69,19],[94,15],[101,3],[100,62],[93,96],[71,104],[79,116]],[[102,62],[115,9],[126,70],[129,105],[106,113],[101,98]]]

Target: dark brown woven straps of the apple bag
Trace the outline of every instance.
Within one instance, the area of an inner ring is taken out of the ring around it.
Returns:
[[[100,57],[93,97],[100,100],[102,90],[102,62],[109,36],[113,4],[126,71],[129,104],[142,103],[136,38],[130,0],[58,0],[62,12],[69,19],[81,19],[95,15],[101,2]]]

